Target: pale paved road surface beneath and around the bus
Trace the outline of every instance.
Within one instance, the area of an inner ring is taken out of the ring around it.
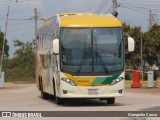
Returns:
[[[97,99],[79,99],[68,100],[63,105],[56,105],[52,99],[43,100],[35,84],[7,84],[0,88],[0,111],[159,111],[160,112],[160,88],[130,88],[126,85],[124,97],[116,98],[114,105],[106,104],[106,101]],[[67,117],[65,119],[97,120],[97,117]],[[1,120],[2,118],[0,118]],[[3,118],[4,120],[7,118]],[[24,119],[24,118],[23,118]],[[28,118],[26,118],[28,119]],[[37,120],[37,118],[34,118]],[[39,118],[56,119],[58,118]],[[108,118],[101,117],[104,120],[158,120],[160,118]],[[17,120],[17,118],[16,118]]]

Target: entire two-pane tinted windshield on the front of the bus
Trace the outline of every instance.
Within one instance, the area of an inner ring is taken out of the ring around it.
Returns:
[[[122,28],[62,28],[61,70],[111,74],[124,68]]]

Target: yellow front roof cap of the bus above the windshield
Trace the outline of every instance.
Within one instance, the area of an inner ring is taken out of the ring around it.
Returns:
[[[67,13],[59,14],[60,27],[122,27],[121,22],[114,16],[96,13]]]

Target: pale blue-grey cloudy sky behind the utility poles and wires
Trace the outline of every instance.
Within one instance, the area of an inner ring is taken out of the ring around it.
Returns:
[[[10,46],[9,58],[17,48],[13,40],[31,42],[34,39],[34,9],[38,10],[38,24],[55,14],[64,12],[112,13],[112,0],[0,0],[0,28],[4,32],[6,14],[9,6],[7,40]],[[159,24],[160,0],[117,0],[118,19],[131,26],[149,29],[149,10],[152,10],[153,23]]]

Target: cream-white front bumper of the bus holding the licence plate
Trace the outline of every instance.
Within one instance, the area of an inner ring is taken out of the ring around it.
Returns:
[[[110,98],[123,96],[124,92],[124,81],[113,86],[64,86],[60,90],[60,98]]]

